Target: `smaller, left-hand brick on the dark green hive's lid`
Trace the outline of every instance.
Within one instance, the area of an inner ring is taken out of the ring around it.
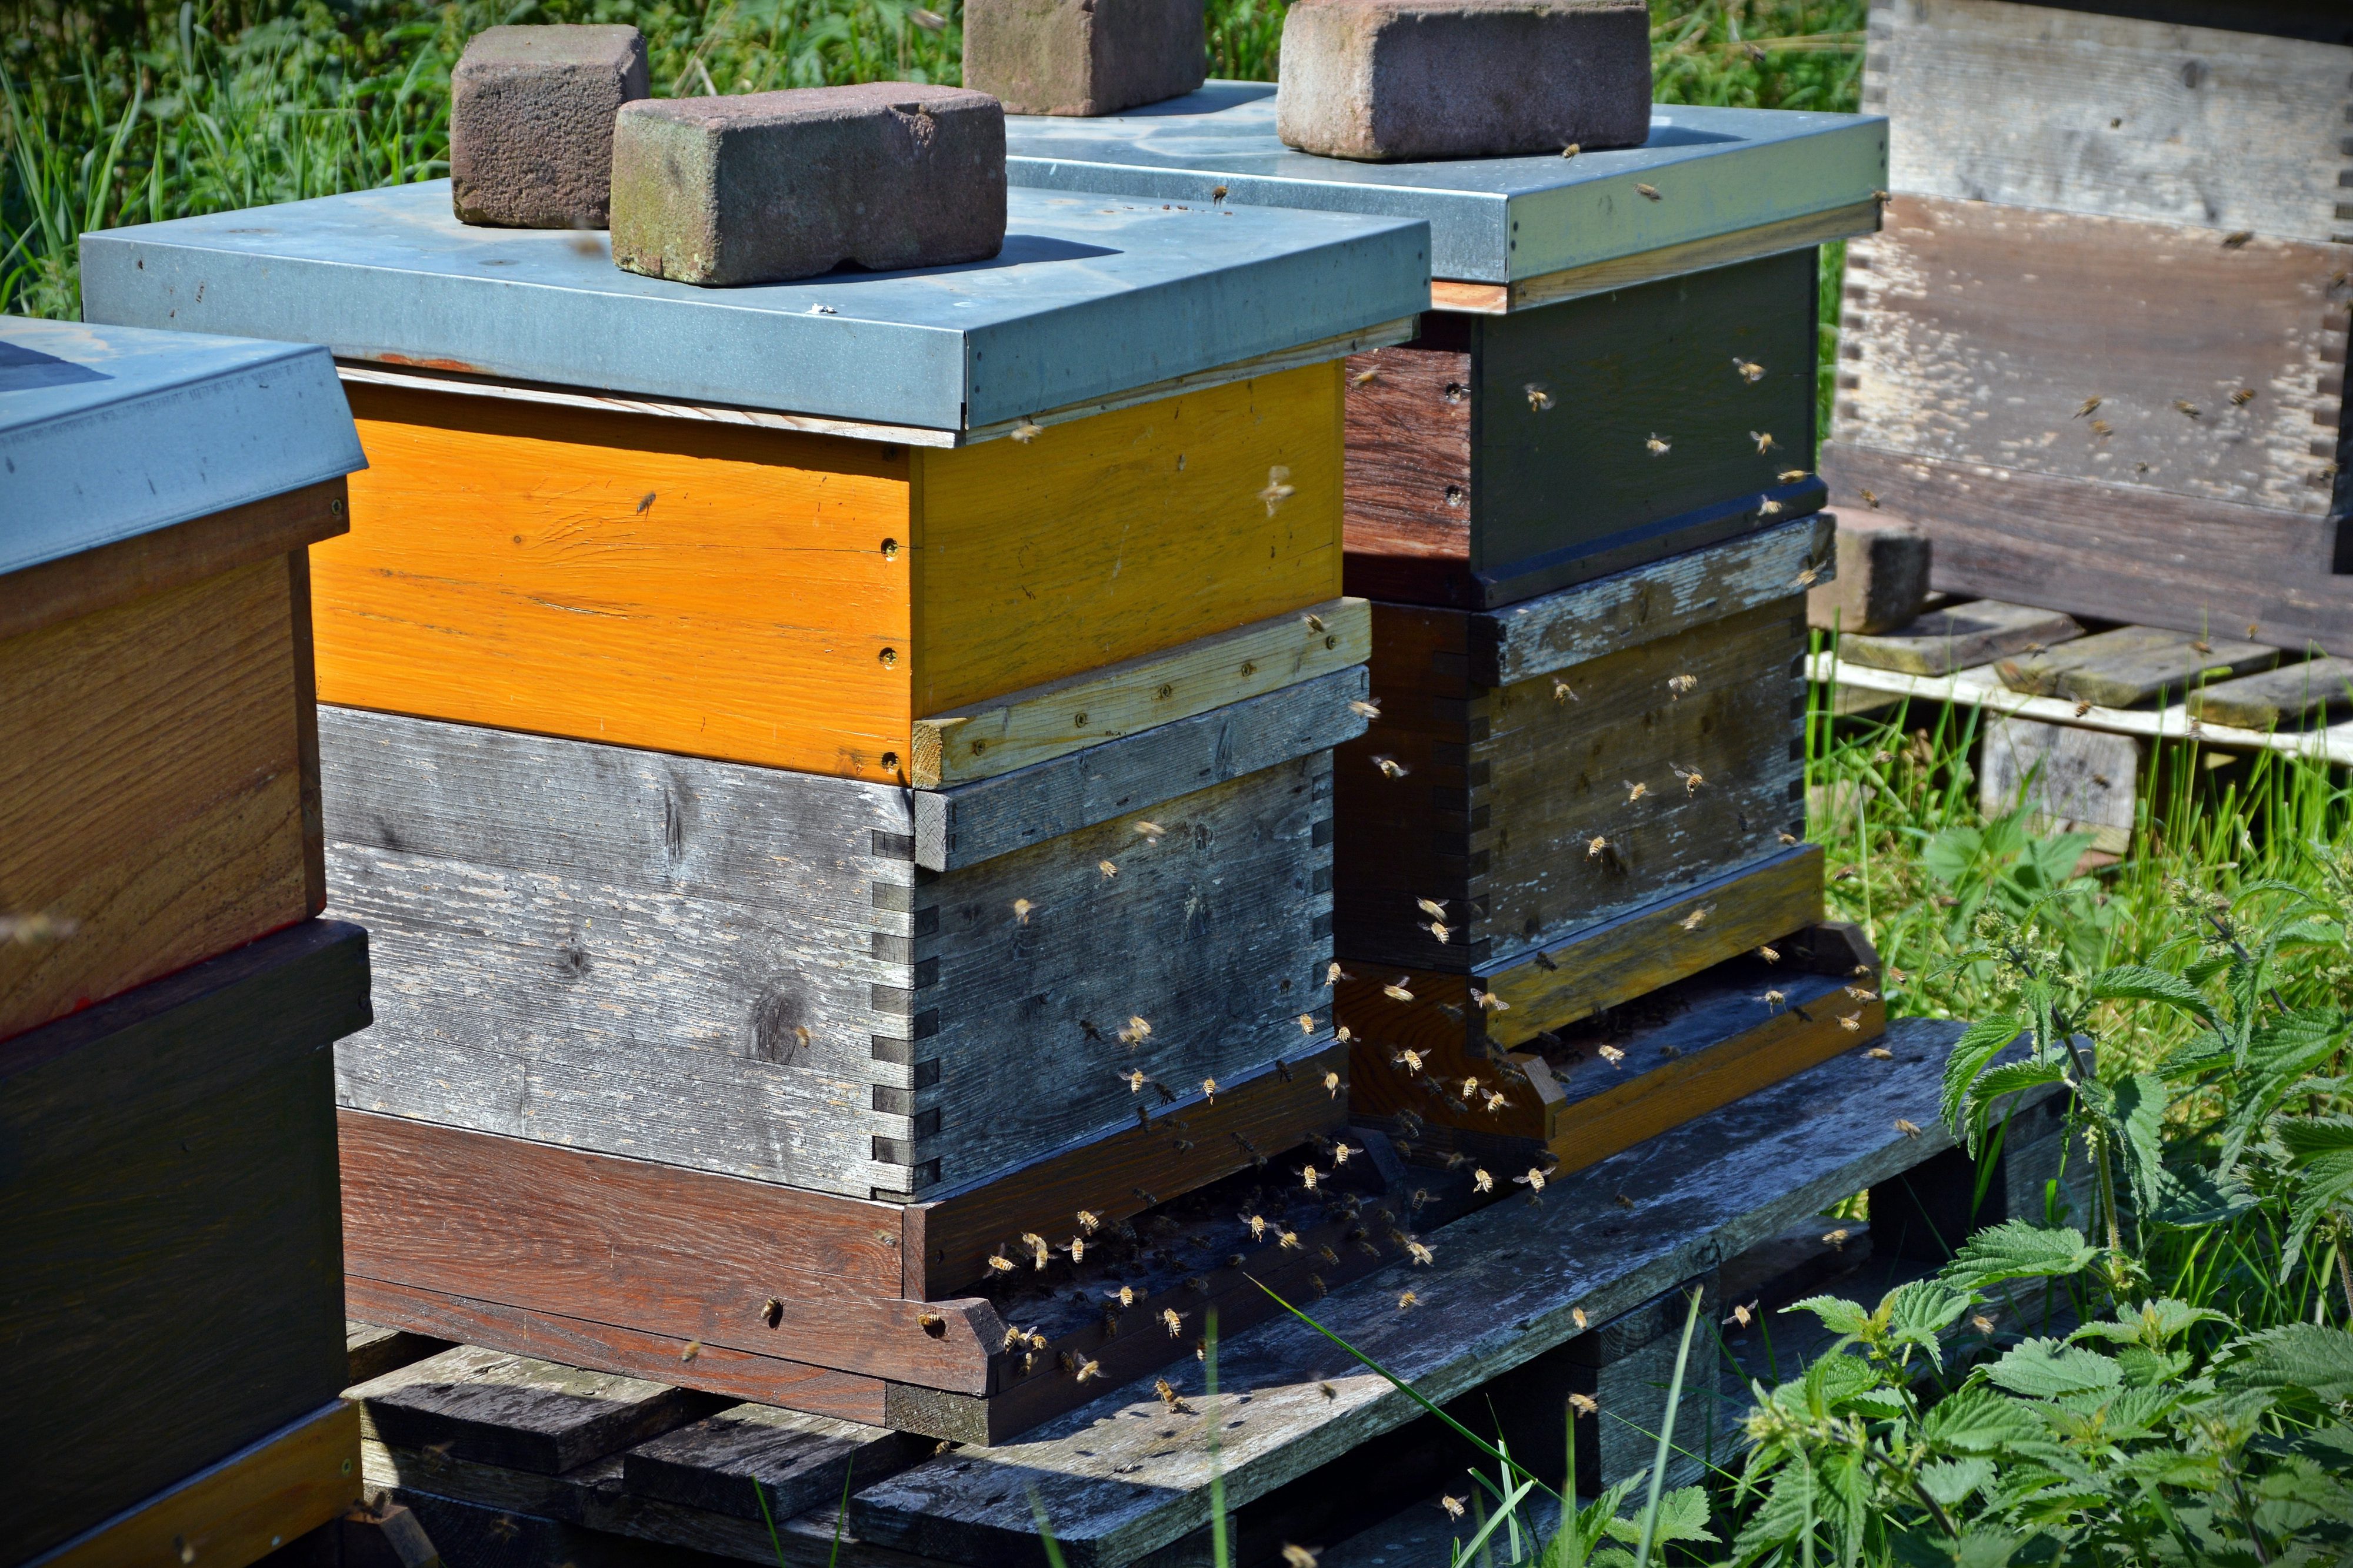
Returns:
[[[1202,0],[967,0],[965,87],[1009,115],[1115,115],[1209,78]]]

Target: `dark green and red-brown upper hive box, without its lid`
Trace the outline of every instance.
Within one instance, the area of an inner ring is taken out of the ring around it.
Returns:
[[[1800,247],[1351,357],[1348,592],[1494,609],[1819,510],[1814,310]]]

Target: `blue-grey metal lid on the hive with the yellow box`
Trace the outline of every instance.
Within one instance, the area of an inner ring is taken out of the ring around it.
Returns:
[[[449,181],[82,235],[108,322],[339,357],[969,430],[1412,317],[1428,228],[1014,190],[995,261],[699,289],[602,233],[468,228]],[[1339,353],[1339,350],[1334,350]]]

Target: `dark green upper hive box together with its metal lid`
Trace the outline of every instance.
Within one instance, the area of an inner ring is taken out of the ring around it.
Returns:
[[[1419,334],[1348,364],[1346,583],[1494,609],[1821,505],[1814,247],[1878,226],[1885,129],[1661,106],[1642,148],[1367,165],[1285,148],[1273,87],[1212,82],[1007,120],[1007,169],[1426,219]]]

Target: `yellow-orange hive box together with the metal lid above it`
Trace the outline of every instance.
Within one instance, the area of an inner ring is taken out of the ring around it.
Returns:
[[[993,263],[713,292],[442,195],[89,242],[94,315],[346,355],[320,698],[875,783],[1297,679],[1341,595],[1339,362],[1426,301],[1400,219],[1016,193]],[[1007,729],[1049,682],[1080,701]]]

